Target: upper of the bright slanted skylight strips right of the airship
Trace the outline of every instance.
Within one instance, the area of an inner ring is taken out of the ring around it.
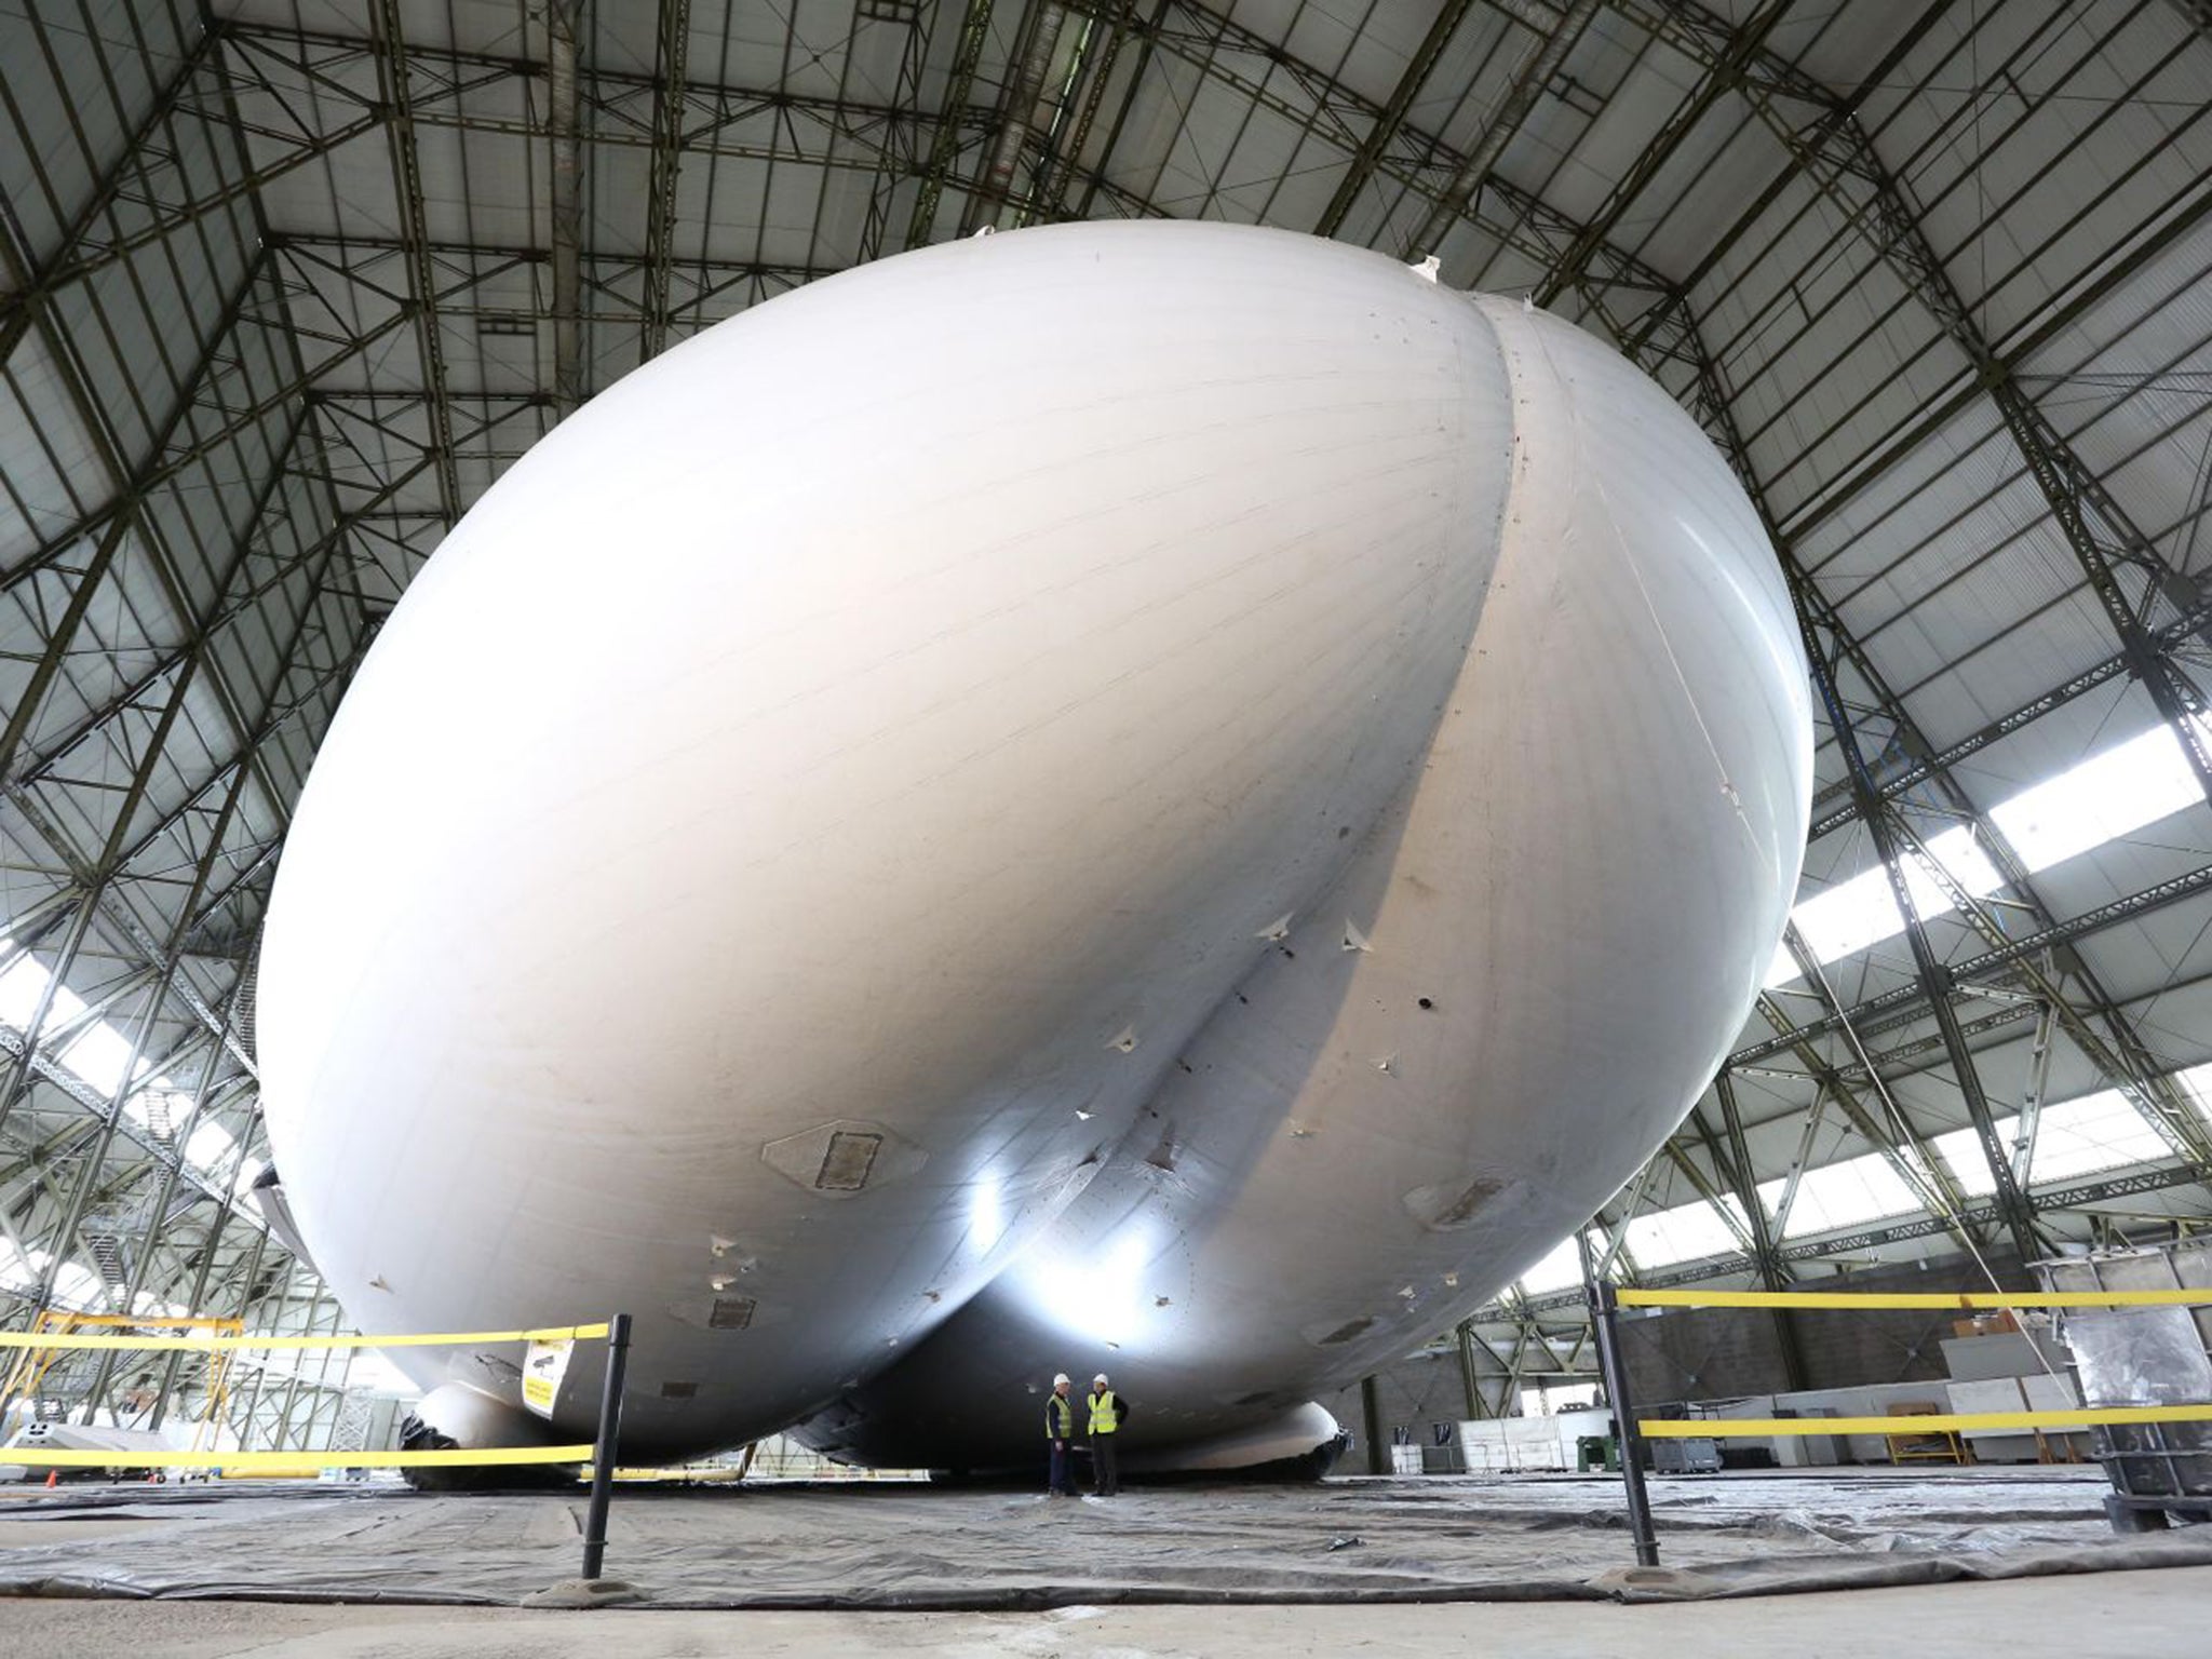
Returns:
[[[2212,728],[2199,723],[2199,730],[2212,739]],[[2022,790],[1991,807],[1989,818],[2033,876],[2201,799],[2181,739],[2161,723]],[[1944,830],[1927,843],[1927,849],[1975,898],[1986,898],[2004,885],[1975,843],[1973,830],[1964,825]],[[1942,916],[1951,909],[1944,889],[1918,858],[1905,858],[1905,885],[1920,916]],[[1790,911],[1790,920],[1796,922],[1805,949],[1820,962],[1854,956],[1905,931],[1889,874],[1880,865],[1803,900]],[[1767,989],[1796,978],[1798,967],[1787,947],[1778,949],[1767,964]]]

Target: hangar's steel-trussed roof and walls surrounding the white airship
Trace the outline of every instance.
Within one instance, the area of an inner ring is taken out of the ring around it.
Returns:
[[[349,675],[484,489],[750,305],[1106,217],[1433,254],[1613,343],[1743,480],[1812,659],[1812,843],[1725,1068],[1369,1429],[1593,1374],[1584,1259],[2020,1287],[2201,1230],[2208,84],[2192,0],[7,7],[0,1325],[345,1329],[254,1199],[257,940]],[[1936,1325],[1632,1358],[1659,1398],[1933,1376]],[[40,1394],[323,1449],[396,1389],[325,1352]]]

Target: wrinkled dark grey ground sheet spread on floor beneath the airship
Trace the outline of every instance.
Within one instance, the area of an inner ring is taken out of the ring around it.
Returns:
[[[1637,1568],[1617,1480],[1338,1478],[1113,1500],[894,1482],[617,1491],[635,1606],[1051,1608],[1626,1601],[2212,1564],[2212,1526],[2115,1537],[2095,1469],[1652,1482]],[[0,1491],[0,1595],[518,1604],[577,1571],[582,1491],[228,1482]]]

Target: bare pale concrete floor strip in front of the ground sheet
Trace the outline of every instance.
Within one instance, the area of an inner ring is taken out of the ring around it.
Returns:
[[[1661,1606],[1060,1608],[1057,1613],[522,1613],[261,1601],[7,1601],[38,1659],[679,1659],[743,1652],[982,1659],[2203,1659],[2212,1566]]]

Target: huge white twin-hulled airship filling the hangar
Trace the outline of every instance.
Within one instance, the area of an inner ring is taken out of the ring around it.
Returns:
[[[465,515],[261,953],[369,1334],[628,1312],[624,1455],[1318,1467],[1668,1137],[1796,887],[1805,661],[1699,427],[1433,263],[1071,223],[752,307]],[[398,1347],[418,1444],[591,1349]]]

